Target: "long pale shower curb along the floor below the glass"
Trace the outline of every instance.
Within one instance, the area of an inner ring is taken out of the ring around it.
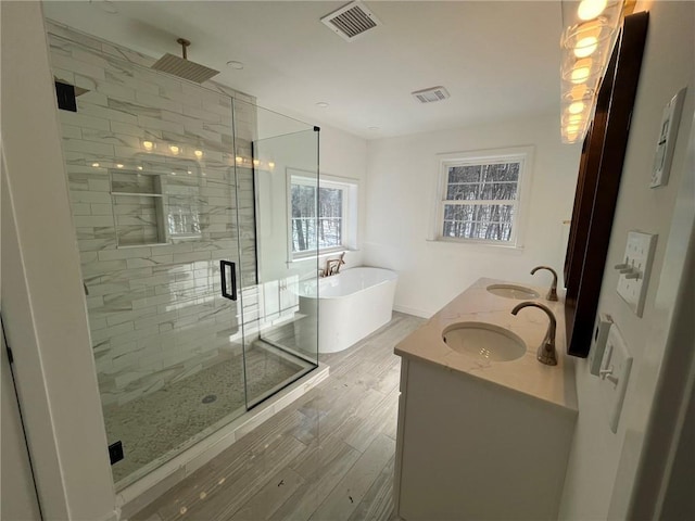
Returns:
[[[116,509],[119,511],[118,519],[121,521],[127,521],[129,516],[147,507],[174,485],[210,462],[237,441],[251,433],[265,420],[271,418],[326,380],[329,371],[329,366],[319,363],[316,369],[300,378],[277,395],[261,403],[242,417],[231,421],[229,424],[212,433],[206,439],[154,469],[140,480],[119,491],[116,494]]]

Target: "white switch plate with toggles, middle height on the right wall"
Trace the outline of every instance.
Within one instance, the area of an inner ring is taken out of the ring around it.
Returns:
[[[640,231],[628,232],[628,244],[622,262],[615,266],[620,270],[618,294],[637,317],[641,317],[644,310],[656,238],[657,236]]]

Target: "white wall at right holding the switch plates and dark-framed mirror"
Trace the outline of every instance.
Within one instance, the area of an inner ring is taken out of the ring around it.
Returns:
[[[662,267],[669,231],[684,228],[684,223],[672,223],[672,215],[685,170],[685,152],[692,125],[695,4],[654,2],[648,8],[646,52],[612,225],[608,268],[598,303],[599,312],[612,316],[634,361],[617,434],[608,428],[598,379],[590,374],[585,360],[579,360],[576,366],[580,415],[560,509],[563,519],[628,517],[628,505],[681,281],[682,262],[680,269],[662,271]],[[648,182],[661,112],[671,97],[684,86],[688,90],[671,178],[668,186],[650,190]],[[690,198],[693,200],[695,194]],[[618,275],[610,269],[622,258],[630,230],[658,234],[642,318],[635,316],[616,293]],[[688,230],[674,233],[672,241],[681,241],[685,247],[688,234]]]

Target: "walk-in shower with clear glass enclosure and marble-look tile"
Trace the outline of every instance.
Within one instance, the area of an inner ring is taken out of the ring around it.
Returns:
[[[317,367],[316,325],[299,309],[317,256],[292,262],[287,171],[318,182],[319,132],[49,31],[55,80],[79,94],[59,113],[123,488]]]

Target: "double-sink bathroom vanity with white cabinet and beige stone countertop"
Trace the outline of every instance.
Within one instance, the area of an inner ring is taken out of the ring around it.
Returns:
[[[404,521],[557,518],[578,408],[563,303],[545,293],[480,279],[395,347]],[[557,319],[556,366],[536,360],[546,314],[511,315],[526,300]]]

